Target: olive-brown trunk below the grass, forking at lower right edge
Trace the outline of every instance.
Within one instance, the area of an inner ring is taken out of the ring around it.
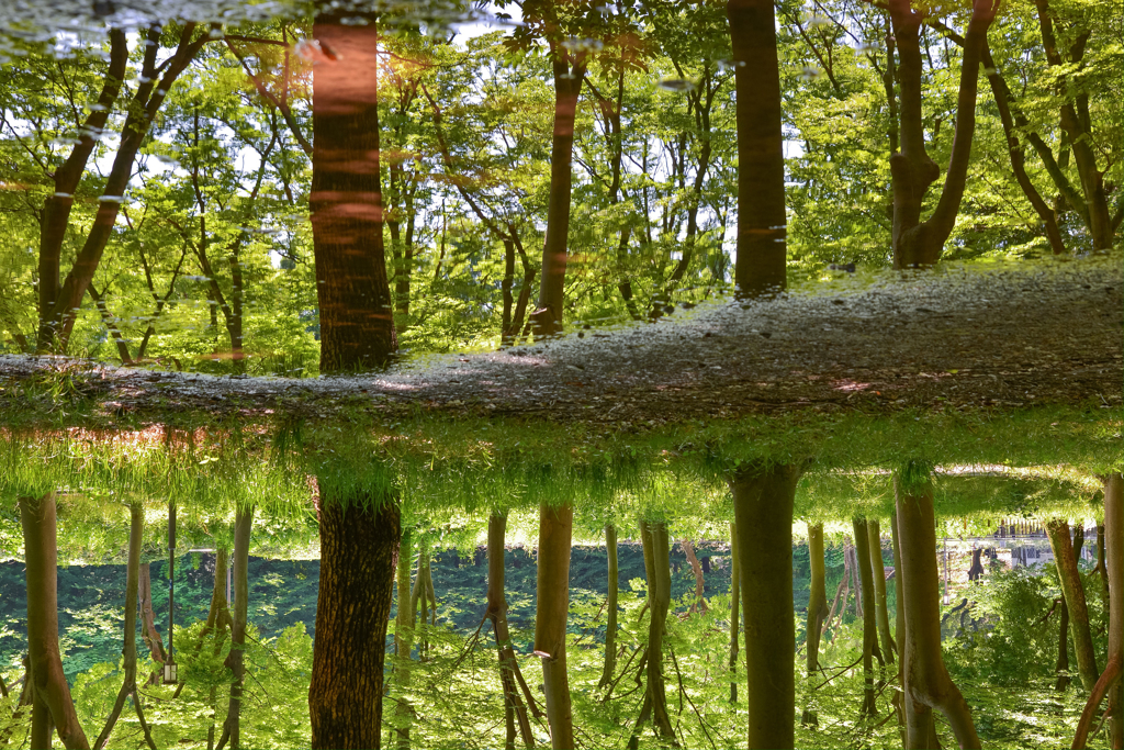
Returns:
[[[936,564],[936,521],[928,476],[912,484],[894,477],[901,567],[898,607],[905,634],[898,638],[905,676],[907,748],[934,747],[933,710],[941,711],[961,748],[978,749],[971,710],[952,683],[941,656],[941,594]]]

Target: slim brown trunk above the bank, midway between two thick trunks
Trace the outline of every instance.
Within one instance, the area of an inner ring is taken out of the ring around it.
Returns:
[[[551,192],[546,204],[546,236],[543,241],[538,309],[531,315],[535,322],[535,333],[541,336],[550,336],[562,331],[566,247],[570,234],[570,199],[573,181],[571,172],[573,125],[578,114],[581,82],[586,78],[584,53],[571,55],[560,44],[552,42],[551,62],[554,70]]]

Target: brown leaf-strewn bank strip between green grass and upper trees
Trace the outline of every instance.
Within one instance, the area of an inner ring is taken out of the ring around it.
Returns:
[[[53,392],[64,379],[88,405],[84,421],[106,426],[124,415],[148,422],[175,413],[365,413],[389,422],[420,409],[652,428],[800,408],[885,414],[1099,401],[1117,409],[1122,287],[1116,256],[841,274],[776,299],[720,300],[654,323],[303,380],[4,355],[0,421],[28,421],[36,407],[27,388],[37,379]]]

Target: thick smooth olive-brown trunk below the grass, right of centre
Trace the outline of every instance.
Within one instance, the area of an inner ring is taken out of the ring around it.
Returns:
[[[750,750],[794,746],[792,503],[799,479],[795,466],[755,463],[727,478],[742,566]]]

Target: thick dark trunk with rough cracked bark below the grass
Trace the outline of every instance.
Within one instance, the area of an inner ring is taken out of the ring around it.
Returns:
[[[395,498],[320,481],[320,587],[308,706],[314,748],[378,748],[382,663],[395,593]]]

